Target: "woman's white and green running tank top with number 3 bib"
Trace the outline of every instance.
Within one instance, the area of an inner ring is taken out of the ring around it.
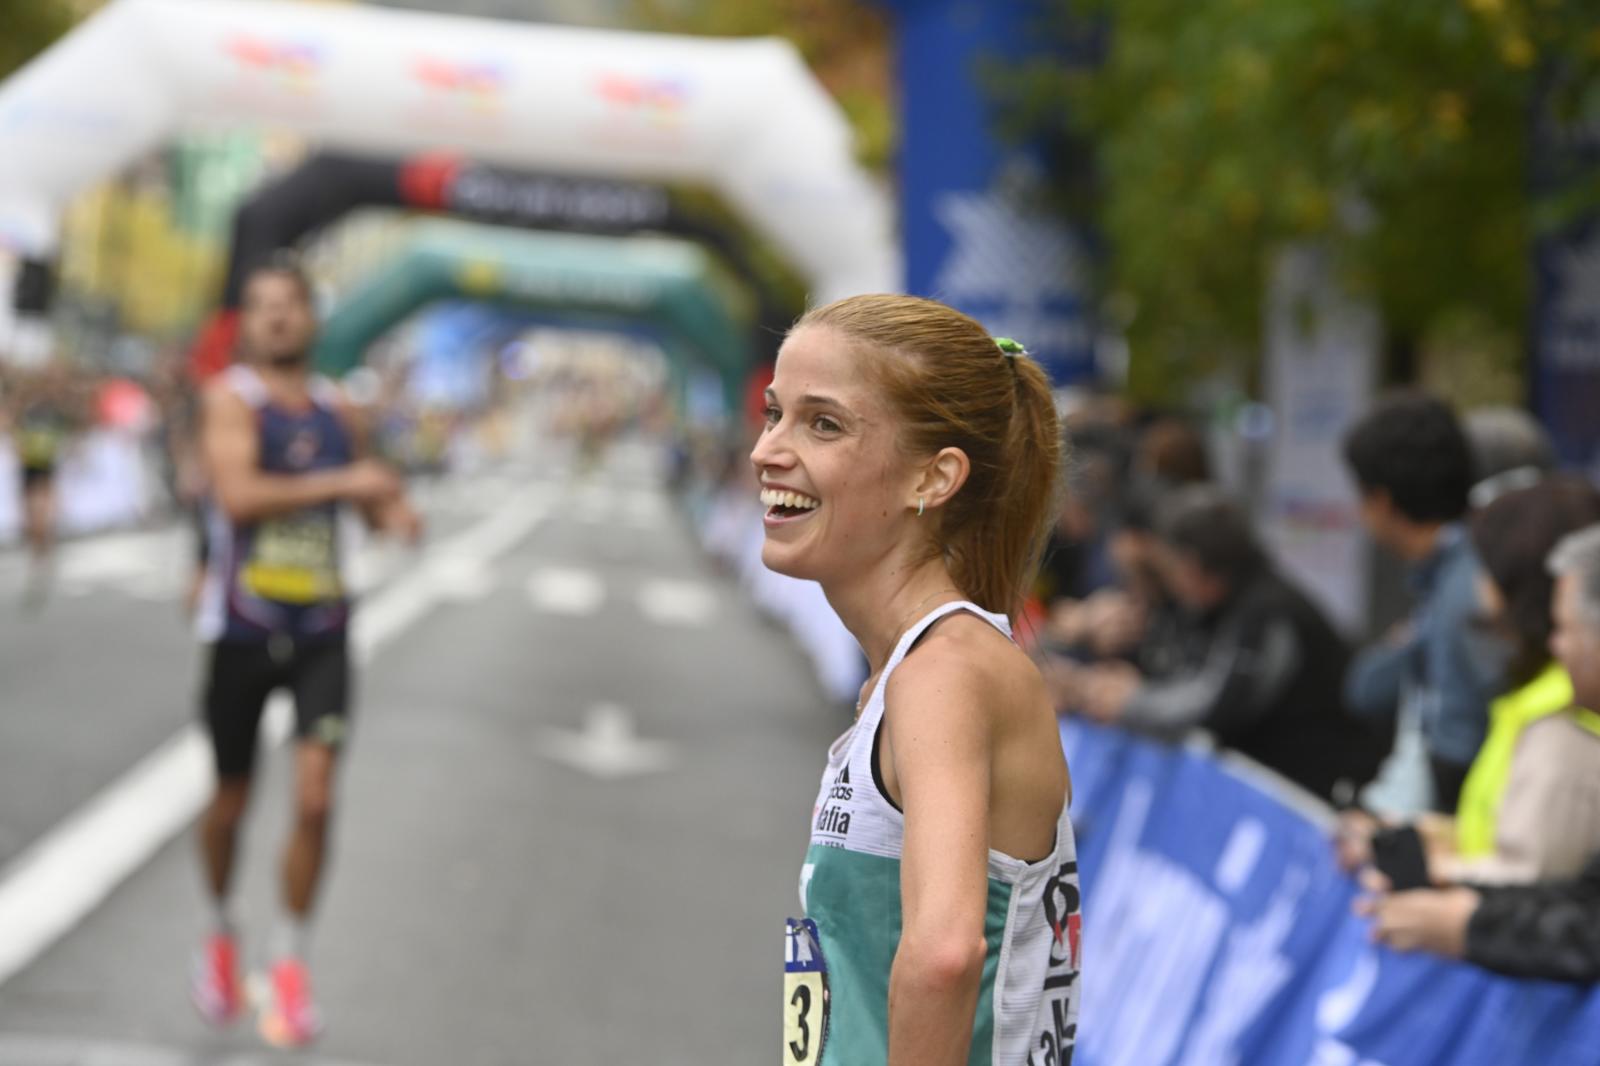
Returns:
[[[888,1058],[890,967],[901,936],[904,816],[883,795],[874,749],[890,674],[938,619],[970,611],[1008,637],[1005,616],[946,603],[912,626],[890,656],[854,727],[834,741],[818,794],[800,906],[818,936],[819,978],[797,967],[806,944],[790,920],[784,1063],[858,1066]],[[912,709],[915,712],[915,709]],[[1054,852],[1037,863],[989,852],[982,980],[968,1066],[1067,1066],[1078,1013],[1078,864],[1066,804]],[[811,991],[806,992],[805,989]],[[824,992],[824,994],[819,994]],[[802,1012],[805,1007],[805,1012]],[[816,1045],[821,1058],[803,1058]]]

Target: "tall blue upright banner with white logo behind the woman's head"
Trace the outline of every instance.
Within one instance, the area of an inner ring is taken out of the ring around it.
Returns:
[[[997,136],[992,86],[1037,54],[1038,0],[883,0],[896,14],[906,291],[965,311],[1027,346],[1058,384],[1094,375],[1080,230],[1038,206],[1034,154]],[[1067,56],[1070,59],[1070,56]]]

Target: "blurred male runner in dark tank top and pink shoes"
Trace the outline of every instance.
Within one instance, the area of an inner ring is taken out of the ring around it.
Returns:
[[[304,1045],[322,1028],[306,946],[350,712],[341,512],[354,504],[376,530],[421,533],[398,475],[362,458],[339,391],[310,373],[315,331],[306,275],[290,261],[256,269],[243,290],[243,359],[208,386],[202,407],[211,559],[197,621],[208,643],[203,714],[218,781],[200,824],[214,922],[192,994],[218,1024],[243,1008],[229,908],[234,850],[261,712],[274,690],[286,688],[294,698],[294,821],[259,1020],[261,1036],[278,1047]]]

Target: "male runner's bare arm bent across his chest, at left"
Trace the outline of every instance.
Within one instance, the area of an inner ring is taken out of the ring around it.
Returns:
[[[222,383],[206,389],[202,407],[202,459],[211,493],[234,522],[259,522],[334,499],[366,501],[390,495],[395,477],[373,463],[307,474],[264,474],[250,405]]]

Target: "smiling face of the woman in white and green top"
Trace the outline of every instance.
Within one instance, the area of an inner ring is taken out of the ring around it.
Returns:
[[[890,557],[915,522],[917,471],[838,331],[803,327],[778,352],[750,463],[766,506],[768,570],[827,583]]]

